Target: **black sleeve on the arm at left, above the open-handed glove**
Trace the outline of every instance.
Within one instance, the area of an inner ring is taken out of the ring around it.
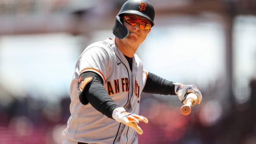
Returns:
[[[93,81],[86,85],[79,100],[83,104],[88,102],[99,112],[112,118],[112,113],[118,106],[108,95],[103,87],[102,78],[94,72],[85,72],[81,74],[82,79],[93,77]],[[113,119],[113,118],[112,118]]]

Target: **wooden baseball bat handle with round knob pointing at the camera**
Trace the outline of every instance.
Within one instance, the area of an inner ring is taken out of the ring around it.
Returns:
[[[191,106],[195,105],[197,102],[197,95],[194,93],[189,93],[186,97],[186,104],[180,108],[180,111],[184,115],[188,115],[191,112]]]

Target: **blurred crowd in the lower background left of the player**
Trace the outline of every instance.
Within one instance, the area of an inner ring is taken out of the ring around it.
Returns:
[[[0,105],[1,144],[59,144],[69,112],[70,98],[45,102],[30,96]]]

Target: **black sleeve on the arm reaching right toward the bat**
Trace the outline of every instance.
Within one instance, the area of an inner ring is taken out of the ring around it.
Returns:
[[[172,81],[160,78],[150,72],[148,72],[148,78],[142,91],[146,93],[176,95],[175,85]]]

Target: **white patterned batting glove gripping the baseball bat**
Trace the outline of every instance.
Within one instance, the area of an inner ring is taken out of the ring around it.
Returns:
[[[183,85],[181,83],[173,83],[175,85],[175,92],[179,96],[180,101],[183,100],[186,93],[195,93],[197,95],[197,103],[199,104],[202,100],[202,94],[195,85]],[[186,104],[186,101],[183,101]]]

